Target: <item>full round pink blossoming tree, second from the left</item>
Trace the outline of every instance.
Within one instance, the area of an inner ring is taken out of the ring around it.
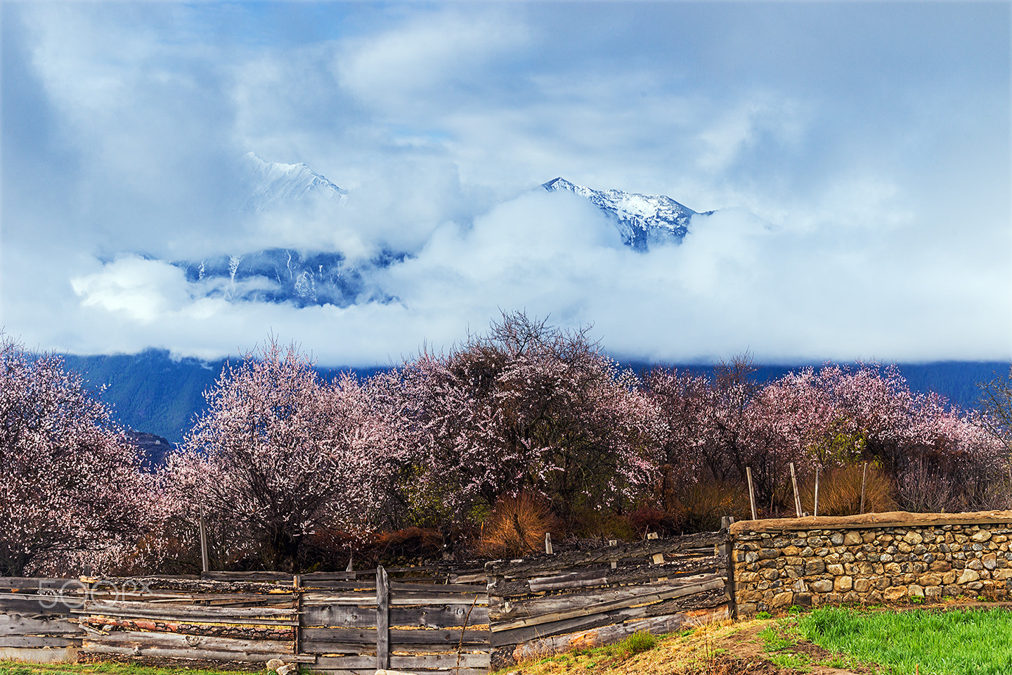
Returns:
[[[354,378],[321,382],[293,346],[269,341],[227,364],[167,475],[195,523],[217,523],[232,558],[290,568],[307,534],[366,523],[381,475],[369,401]]]

